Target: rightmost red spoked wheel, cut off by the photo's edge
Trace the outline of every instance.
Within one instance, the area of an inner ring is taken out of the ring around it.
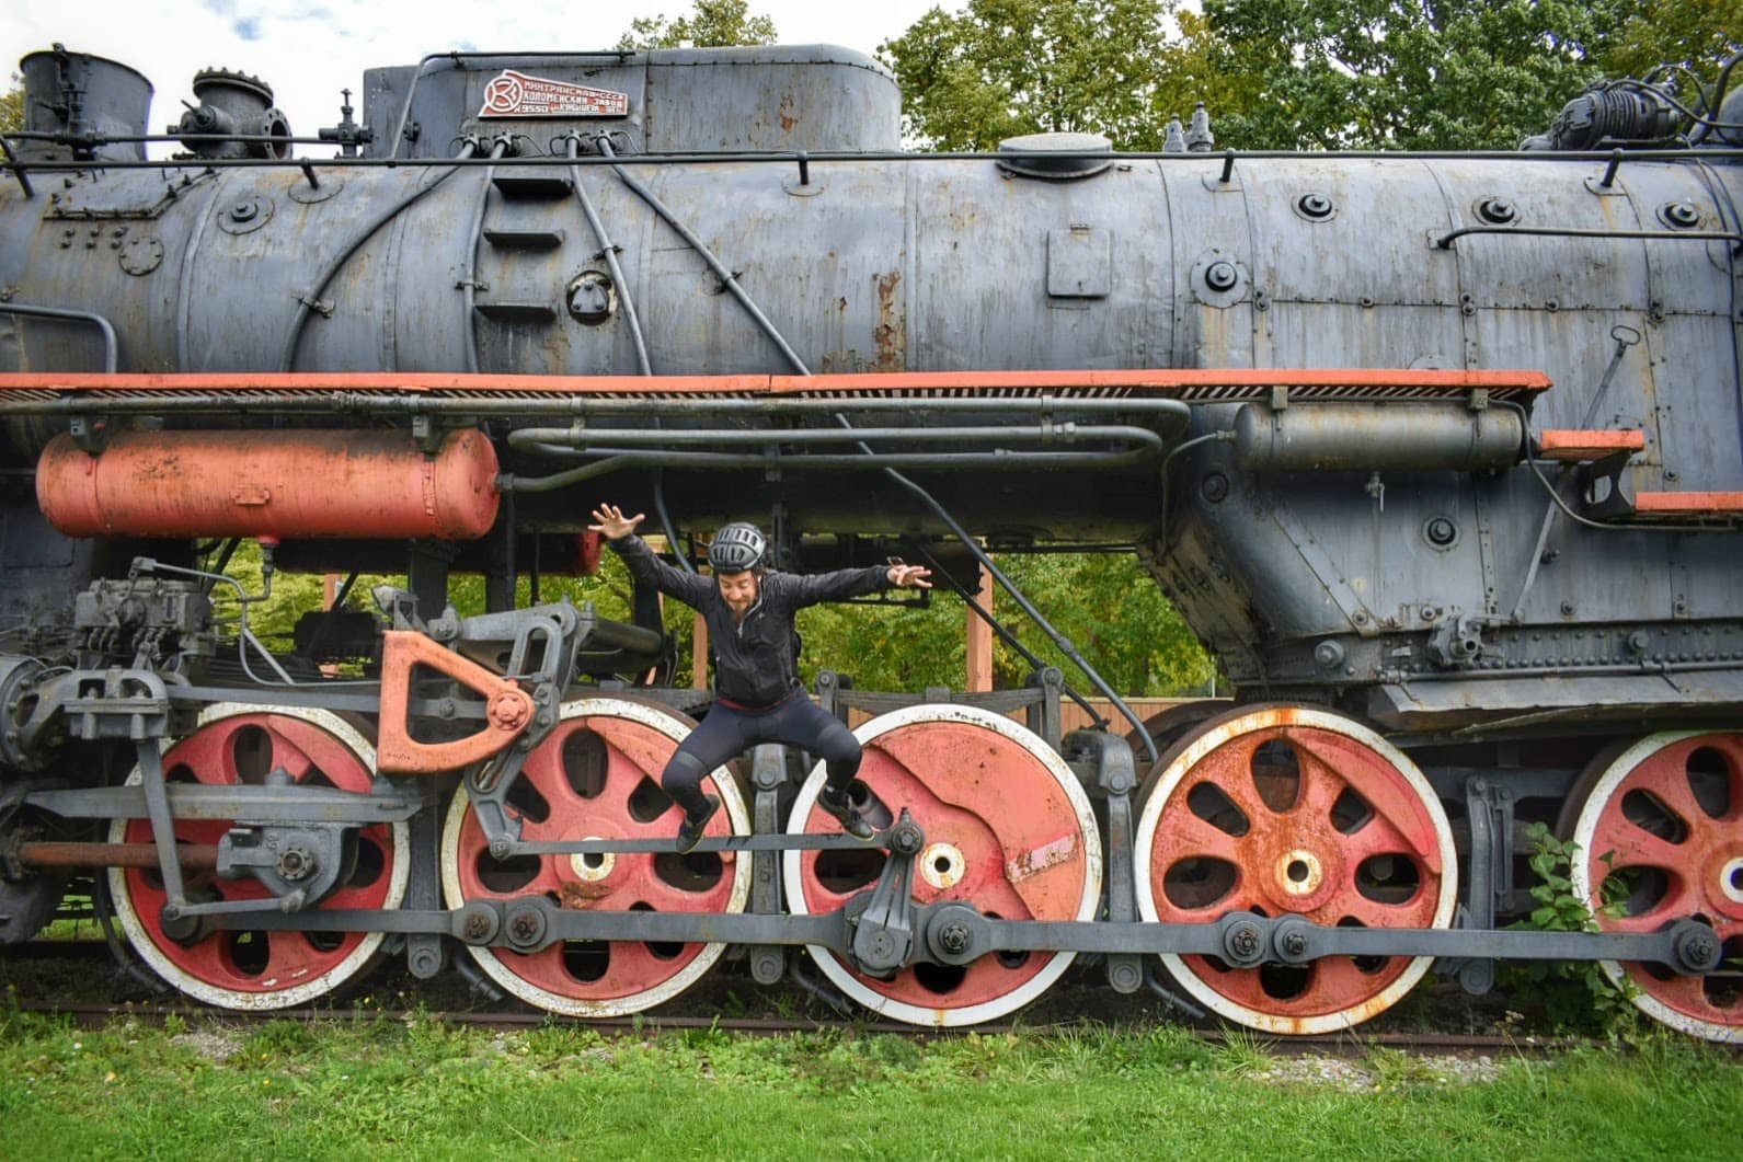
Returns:
[[[1600,760],[1602,761],[1602,760]],[[1658,932],[1703,920],[1717,970],[1677,976],[1605,960],[1635,1005],[1672,1028],[1743,1044],[1743,733],[1670,732],[1598,768],[1572,828],[1574,894],[1605,932]]]

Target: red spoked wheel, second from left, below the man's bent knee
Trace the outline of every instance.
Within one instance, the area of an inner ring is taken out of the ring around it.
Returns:
[[[627,699],[582,699],[526,756],[507,808],[528,841],[671,840],[683,812],[659,775],[695,723]],[[704,779],[722,808],[706,834],[746,834],[744,796],[725,768]],[[495,859],[465,791],[443,829],[448,906],[544,895],[558,908],[600,911],[744,911],[751,861],[732,852],[519,855]],[[575,1017],[619,1017],[671,1000],[699,981],[725,944],[560,941],[544,951],[467,948],[502,988],[530,1005]]]

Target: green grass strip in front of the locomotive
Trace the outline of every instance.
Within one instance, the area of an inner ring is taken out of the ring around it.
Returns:
[[[1377,1051],[1354,1082],[1286,1082],[1271,1052],[1175,1028],[922,1044],[0,1009],[0,1157],[1719,1159],[1743,1122],[1740,1059],[1668,1037],[1490,1080]]]

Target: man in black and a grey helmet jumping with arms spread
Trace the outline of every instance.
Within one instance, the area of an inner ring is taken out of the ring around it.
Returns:
[[[859,598],[880,589],[931,589],[931,570],[919,564],[872,564],[800,577],[769,571],[769,544],[755,524],[736,521],[708,547],[713,577],[685,573],[654,556],[634,535],[645,514],[624,516],[617,505],[593,510],[591,531],[603,533],[631,575],[678,598],[708,622],[715,655],[715,706],[666,763],[661,786],[683,808],[678,850],[702,840],[702,828],[720,810],[720,796],[702,793],[702,777],[758,742],[784,742],[823,760],[826,784],[817,807],[861,840],[868,824],[847,798],[859,770],[859,740],[833,714],[817,707],[798,685],[793,615],[819,601]]]

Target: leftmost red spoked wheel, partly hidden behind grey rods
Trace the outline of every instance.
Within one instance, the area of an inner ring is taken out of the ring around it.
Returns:
[[[260,784],[284,770],[298,784],[317,784],[368,794],[375,780],[375,747],[356,728],[328,711],[221,702],[200,714],[199,726],[164,753],[169,782],[207,786]],[[129,784],[141,782],[134,770]],[[214,845],[234,824],[225,819],[176,822],[176,841]],[[145,819],[117,819],[112,843],[150,843]],[[321,908],[399,908],[411,859],[404,822],[361,828],[356,859]],[[155,868],[110,868],[115,916],[139,958],[188,996],[225,1009],[288,1009],[336,990],[368,969],[382,946],[382,932],[248,930],[220,929],[190,942],[162,925],[167,902]],[[211,871],[185,869],[190,901],[265,899],[270,890],[254,878],[220,880]],[[319,909],[309,913],[319,929]]]

